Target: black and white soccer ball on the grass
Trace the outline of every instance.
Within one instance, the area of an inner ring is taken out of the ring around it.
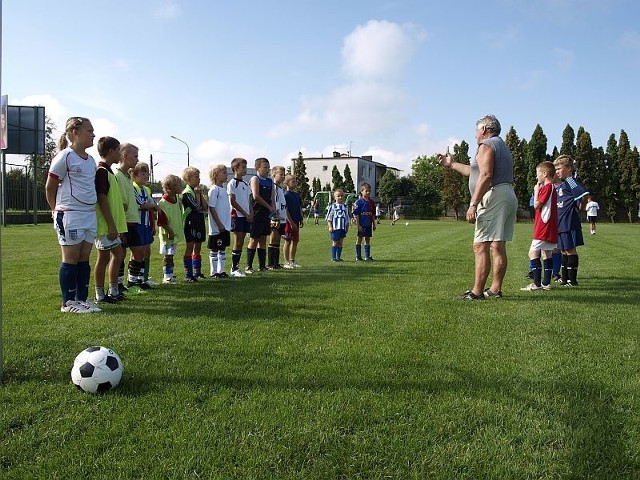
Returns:
[[[73,361],[71,381],[87,393],[107,392],[120,383],[124,365],[116,352],[105,347],[89,347]]]

